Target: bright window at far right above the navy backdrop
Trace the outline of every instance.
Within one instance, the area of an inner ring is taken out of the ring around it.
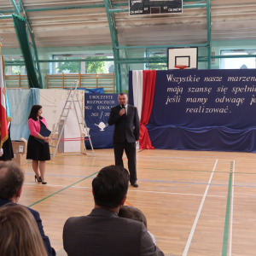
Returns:
[[[220,55],[256,55],[256,49],[223,49]],[[256,58],[226,58],[220,59],[220,69],[255,68]]]

